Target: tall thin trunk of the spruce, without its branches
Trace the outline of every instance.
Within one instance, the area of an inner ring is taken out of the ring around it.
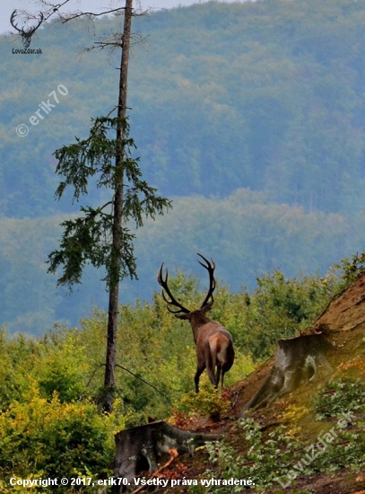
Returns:
[[[129,63],[129,49],[131,40],[132,25],[132,5],[133,0],[126,0],[125,20],[122,38],[122,57],[120,61],[119,75],[119,101],[117,116],[120,119],[117,126],[117,142],[121,146],[117,148],[116,155],[116,191],[114,197],[114,223],[113,223],[113,247],[111,259],[110,289],[109,289],[109,314],[108,314],[108,336],[107,336],[107,357],[105,366],[103,399],[104,411],[110,413],[113,410],[115,394],[115,370],[117,353],[117,322],[119,305],[119,281],[122,246],[122,216],[123,216],[123,189],[124,189],[124,169],[123,161],[125,150],[122,146],[124,140],[124,128],[122,119],[126,118],[126,95],[127,95],[127,75]]]

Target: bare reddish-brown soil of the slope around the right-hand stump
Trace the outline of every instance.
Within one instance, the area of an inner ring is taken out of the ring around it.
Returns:
[[[326,336],[330,347],[326,352],[326,358],[332,368],[332,377],[341,378],[343,375],[356,376],[365,382],[365,273],[352,283],[351,287],[343,290],[327,305],[326,309],[315,322],[299,336],[321,333]],[[237,419],[242,414],[242,410],[248,401],[252,400],[255,394],[263,387],[268,377],[272,373],[275,365],[275,357],[269,358],[255,372],[235,384],[230,388],[232,409],[229,416],[222,418],[219,422],[205,418],[189,420],[187,428],[189,430],[200,430],[204,432],[223,433],[226,441],[230,445],[237,445],[240,454],[245,454],[242,445],[243,440],[239,437]],[[267,433],[273,431],[280,423],[282,412],[289,404],[303,403],[306,399],[313,398],[319,393],[321,386],[328,380],[319,379],[319,382],[309,382],[300,384],[300,387],[282,400],[274,401],[267,408],[250,411],[250,415],[256,419],[263,430]],[[317,437],[320,424],[313,422],[313,428],[308,430],[309,437]],[[184,424],[179,425],[182,428]],[[356,431],[354,431],[355,433]],[[183,474],[186,478],[198,478],[208,465],[207,457],[204,454],[197,454],[193,459],[182,459],[176,467],[171,468],[166,475],[172,478]],[[211,468],[212,465],[209,465]],[[288,490],[270,489],[266,494],[274,492],[291,492]],[[362,472],[352,472],[350,469],[343,469],[332,475],[318,472],[316,475],[298,479],[295,484],[298,492],[315,492],[317,494],[365,494],[365,467]],[[177,490],[168,490],[168,492]],[[183,492],[179,488],[178,492]],[[252,491],[252,490],[251,490]]]

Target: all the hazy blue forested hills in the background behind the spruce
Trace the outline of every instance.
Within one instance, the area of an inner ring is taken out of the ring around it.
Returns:
[[[45,261],[59,223],[79,209],[55,201],[52,154],[117,103],[119,55],[81,52],[120,23],[50,23],[31,41],[39,56],[14,55],[19,36],[0,38],[0,322],[9,331],[42,334],[106,306],[102,273],[87,270],[67,296]],[[162,260],[200,276],[198,251],[243,293],[266,272],[325,275],[365,250],[364,25],[364,0],[210,2],[134,19],[131,137],[143,177],[173,209],[137,231],[139,281],[123,282],[122,303],[152,300]],[[68,94],[31,126],[58,84]]]

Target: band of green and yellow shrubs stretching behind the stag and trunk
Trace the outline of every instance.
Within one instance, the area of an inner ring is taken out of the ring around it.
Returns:
[[[182,273],[169,285],[188,306],[204,297],[196,278]],[[274,351],[278,338],[309,325],[342,286],[335,275],[290,279],[280,272],[260,278],[250,296],[219,285],[212,317],[226,325],[236,348],[225,384],[248,375],[255,360]],[[216,419],[230,408],[229,396],[213,392],[206,375],[202,393],[192,393],[196,354],[191,329],[155,294],[152,303],[120,305],[118,396],[114,412],[100,414],[96,403],[103,390],[107,315],[95,311],[79,330],[58,327],[33,339],[0,332],[0,487],[6,494],[10,476],[95,479],[110,472],[113,434],[125,426],[171,414],[175,423],[195,413]],[[359,399],[356,393],[352,390],[353,399]],[[330,401],[321,405],[328,407]],[[47,494],[58,491],[67,490],[42,488]]]

